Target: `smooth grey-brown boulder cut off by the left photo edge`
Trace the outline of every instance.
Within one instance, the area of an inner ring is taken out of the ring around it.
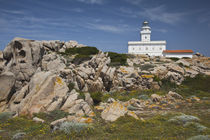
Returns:
[[[0,102],[9,101],[14,94],[15,76],[11,72],[4,72],[0,75]]]

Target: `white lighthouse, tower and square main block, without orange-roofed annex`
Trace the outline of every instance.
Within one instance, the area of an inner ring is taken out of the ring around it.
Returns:
[[[141,41],[129,41],[129,54],[148,54],[150,56],[163,56],[166,50],[166,41],[151,41],[151,28],[147,21],[143,22],[140,31]]]

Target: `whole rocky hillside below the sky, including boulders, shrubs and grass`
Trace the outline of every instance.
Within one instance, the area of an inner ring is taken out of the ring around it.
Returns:
[[[209,139],[209,82],[210,58],[199,53],[15,38],[0,52],[0,138]]]

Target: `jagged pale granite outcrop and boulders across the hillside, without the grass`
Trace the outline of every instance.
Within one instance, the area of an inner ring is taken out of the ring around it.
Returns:
[[[128,66],[114,67],[108,54],[101,51],[80,64],[72,63],[75,56],[62,55],[66,49],[77,47],[84,45],[13,39],[0,52],[0,111],[32,115],[61,109],[74,117],[93,117],[93,100],[88,92],[159,89],[161,82],[155,77],[179,85],[187,76],[210,75],[209,58],[200,55],[178,61],[133,55],[127,59]],[[86,92],[85,99],[79,98],[76,90]],[[173,92],[168,96],[182,99]],[[152,100],[159,102],[162,97],[152,95]],[[116,101],[104,106],[102,118],[113,121],[125,114],[137,118]]]

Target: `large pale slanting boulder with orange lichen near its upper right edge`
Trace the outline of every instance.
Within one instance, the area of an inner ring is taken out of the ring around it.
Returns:
[[[60,77],[51,72],[39,72],[32,77],[26,97],[10,109],[29,115],[59,109],[67,92],[68,87]]]

